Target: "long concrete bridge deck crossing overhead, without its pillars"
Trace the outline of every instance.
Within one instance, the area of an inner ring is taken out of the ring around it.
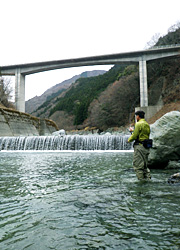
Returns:
[[[16,70],[20,69],[21,74],[28,75],[53,69],[90,66],[90,65],[138,63],[141,60],[152,61],[159,58],[175,57],[179,55],[180,55],[180,44],[177,44],[172,46],[155,47],[148,50],[124,52],[118,54],[1,66],[0,74],[15,75]]]

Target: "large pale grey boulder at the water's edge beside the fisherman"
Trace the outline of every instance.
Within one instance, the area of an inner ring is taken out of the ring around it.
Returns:
[[[151,125],[153,148],[150,149],[149,167],[166,167],[169,161],[180,160],[180,112],[172,111]]]

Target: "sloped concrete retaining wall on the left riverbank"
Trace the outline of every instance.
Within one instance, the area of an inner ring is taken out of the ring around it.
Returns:
[[[0,108],[0,136],[51,135],[57,130],[56,124],[51,120]]]

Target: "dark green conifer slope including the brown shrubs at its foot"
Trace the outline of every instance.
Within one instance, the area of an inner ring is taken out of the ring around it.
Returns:
[[[59,127],[74,129],[88,117],[88,107],[109,84],[122,75],[126,65],[117,65],[103,75],[80,78],[58,97],[41,105],[36,114],[51,117]]]

